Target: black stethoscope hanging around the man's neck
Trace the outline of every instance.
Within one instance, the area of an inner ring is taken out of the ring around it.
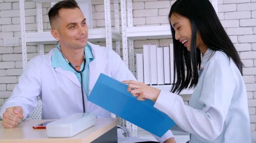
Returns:
[[[61,52],[61,50],[58,48],[57,45],[58,45],[58,42],[56,42],[55,46],[56,46],[56,48]],[[62,55],[62,56],[64,57],[64,59],[68,62],[67,58],[63,55],[62,52],[61,52],[61,55]],[[84,55],[85,55],[85,54],[84,54]],[[71,62],[68,62],[68,64],[70,65],[70,67],[72,67],[76,72],[80,73],[80,75],[81,75],[81,90],[82,90],[82,100],[83,100],[84,113],[85,113],[85,107],[84,107],[83,71],[84,71],[84,69],[85,69],[85,62],[86,62],[86,60],[85,60],[85,56],[84,56],[84,67],[83,67],[83,70],[81,70],[81,71],[78,71],[78,70],[76,70],[76,68],[75,68],[75,67],[81,67],[81,65],[80,65],[80,66],[76,66],[76,65],[72,64]]]

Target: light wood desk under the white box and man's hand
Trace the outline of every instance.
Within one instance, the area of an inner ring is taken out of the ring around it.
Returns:
[[[33,129],[47,120],[25,120],[7,129],[0,121],[0,143],[117,143],[119,118],[97,118],[96,124],[73,137],[49,138],[46,129]]]

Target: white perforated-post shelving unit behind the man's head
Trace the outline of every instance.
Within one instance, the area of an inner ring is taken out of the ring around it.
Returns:
[[[20,0],[20,25],[22,41],[23,69],[27,65],[26,43],[38,44],[38,53],[44,54],[44,45],[55,44],[57,40],[50,32],[43,31],[42,3],[54,3],[61,0],[32,0],[36,3],[37,32],[26,33],[24,0]],[[81,0],[80,0],[81,1]],[[116,42],[116,53],[121,56],[120,31],[119,31],[119,3],[114,0],[115,28],[111,28],[110,0],[104,0],[105,7],[105,28],[89,29],[89,42],[106,42],[107,48],[112,48],[112,42]]]

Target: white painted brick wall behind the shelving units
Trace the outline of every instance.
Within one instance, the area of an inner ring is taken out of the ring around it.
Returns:
[[[26,30],[35,32],[37,30],[35,2],[24,1]],[[133,0],[134,26],[168,25],[167,16],[174,2],[175,0]],[[104,1],[92,0],[92,4],[93,27],[104,27]],[[47,16],[50,6],[50,3],[42,5],[44,31],[50,30]],[[113,26],[113,0],[111,0],[111,8]],[[218,0],[218,10],[218,17],[244,63],[243,78],[247,87],[251,130],[256,132],[256,0]],[[21,44],[18,47],[3,47],[3,37],[21,38],[19,16],[19,0],[0,0],[0,107],[12,94],[22,73]],[[119,16],[121,16],[120,12]],[[142,52],[143,44],[169,46],[170,42],[172,39],[134,41],[134,51]],[[98,44],[105,46],[104,42]],[[45,53],[52,48],[54,45],[45,45]],[[27,52],[29,60],[37,55],[37,46],[28,44]],[[185,104],[188,104],[189,98],[190,96],[183,96]]]

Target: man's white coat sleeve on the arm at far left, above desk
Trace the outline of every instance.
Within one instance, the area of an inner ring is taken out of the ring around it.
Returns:
[[[28,118],[30,112],[38,104],[38,95],[40,93],[41,74],[34,60],[31,59],[20,76],[19,83],[15,86],[11,97],[3,104],[0,110],[0,117],[3,118],[6,108],[20,106],[23,109],[24,119]]]

